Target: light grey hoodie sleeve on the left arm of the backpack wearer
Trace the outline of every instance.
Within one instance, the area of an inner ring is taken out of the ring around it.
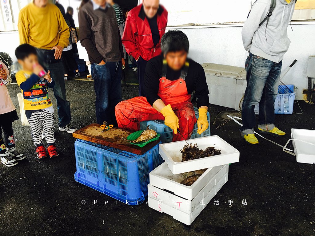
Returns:
[[[269,1],[270,2],[270,1]],[[246,51],[249,52],[250,46],[259,24],[269,13],[270,3],[266,0],[257,1],[250,11],[249,17],[245,21],[242,29],[243,44]]]

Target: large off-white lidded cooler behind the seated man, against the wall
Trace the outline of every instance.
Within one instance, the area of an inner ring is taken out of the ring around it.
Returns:
[[[209,88],[209,103],[239,110],[247,86],[245,68],[213,63],[202,66]]]

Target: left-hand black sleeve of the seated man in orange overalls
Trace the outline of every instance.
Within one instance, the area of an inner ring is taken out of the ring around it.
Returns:
[[[140,58],[139,60],[142,60]],[[154,59],[153,59],[154,60]],[[161,73],[158,71],[158,66],[153,60],[149,60],[146,64],[146,74],[144,76],[144,89],[146,93],[146,100],[153,106],[157,99],[161,99],[157,93],[159,90]]]

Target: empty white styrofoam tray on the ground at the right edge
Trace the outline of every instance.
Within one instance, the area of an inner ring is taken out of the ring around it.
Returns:
[[[291,138],[296,161],[315,164],[315,130],[291,129]]]

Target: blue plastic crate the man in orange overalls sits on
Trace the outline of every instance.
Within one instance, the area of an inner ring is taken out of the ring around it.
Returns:
[[[195,110],[196,118],[198,119],[198,117],[199,117],[198,108],[194,107],[194,110]],[[201,135],[199,135],[197,133],[198,126],[196,123],[190,139],[210,136],[210,114],[209,114],[209,112],[207,112],[207,118],[208,118],[208,122],[209,122],[208,129],[206,131],[204,131]],[[160,140],[162,143],[172,142],[173,130],[171,128],[169,128],[168,126],[164,125],[164,121],[158,121],[158,120],[142,121],[142,122],[140,122],[140,130],[145,130],[148,125],[150,125],[150,129],[155,130],[156,132],[158,132],[161,135]]]

